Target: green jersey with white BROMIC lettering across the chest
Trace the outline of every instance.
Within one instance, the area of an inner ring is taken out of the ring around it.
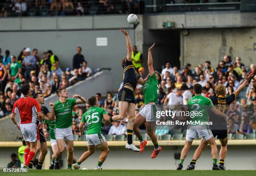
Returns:
[[[54,111],[56,116],[55,128],[69,128],[72,123],[72,109],[76,104],[76,99],[67,99],[64,102],[57,101],[54,103]]]

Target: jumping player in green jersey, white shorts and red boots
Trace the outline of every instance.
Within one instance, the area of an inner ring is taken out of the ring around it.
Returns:
[[[159,151],[161,151],[161,147],[158,146],[156,133],[154,132],[155,126],[156,126],[156,106],[158,104],[158,84],[159,82],[161,82],[160,73],[157,71],[154,71],[154,68],[153,68],[153,59],[152,59],[151,51],[154,48],[154,45],[152,45],[148,49],[148,71],[149,71],[150,77],[148,78],[146,83],[143,85],[143,87],[138,88],[135,91],[136,94],[143,92],[145,106],[136,115],[134,126],[133,126],[133,131],[140,140],[141,151],[139,153],[142,153],[144,151],[144,147],[147,144],[147,141],[143,140],[141,136],[141,131],[138,129],[138,126],[146,123],[147,134],[151,138],[151,141],[155,146],[155,149],[151,155],[151,158],[155,158],[158,155]]]

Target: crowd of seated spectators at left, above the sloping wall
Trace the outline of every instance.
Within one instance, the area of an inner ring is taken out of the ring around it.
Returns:
[[[22,97],[20,86],[29,83],[31,96],[37,92],[44,97],[55,93],[58,88],[69,87],[92,75],[91,68],[77,47],[73,57],[73,69],[61,70],[59,58],[51,51],[43,52],[41,59],[38,50],[23,48],[18,57],[5,50],[1,55],[0,48],[0,118],[12,112],[12,106]]]

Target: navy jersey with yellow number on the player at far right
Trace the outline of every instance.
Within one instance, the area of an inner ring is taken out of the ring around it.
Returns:
[[[227,114],[230,104],[236,100],[236,96],[232,93],[230,96],[213,96],[210,98],[213,105],[222,113]],[[210,121],[212,121],[212,126],[215,130],[223,130],[227,128],[227,121],[223,117],[215,116],[214,114],[210,115]],[[211,128],[211,127],[210,127]],[[211,128],[212,129],[212,128]]]

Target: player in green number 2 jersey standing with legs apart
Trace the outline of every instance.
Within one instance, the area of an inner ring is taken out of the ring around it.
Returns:
[[[182,149],[180,160],[179,160],[179,166],[177,170],[182,170],[183,161],[187,156],[189,148],[192,146],[193,140],[197,138],[197,136],[199,138],[204,138],[205,141],[207,141],[207,143],[210,145],[212,149],[212,152],[211,152],[212,161],[213,161],[212,170],[220,170],[219,166],[217,165],[218,149],[217,149],[215,139],[212,135],[212,131],[207,125],[201,125],[201,123],[203,124],[207,123],[209,118],[208,109],[210,109],[210,111],[212,111],[215,115],[222,116],[223,118],[226,118],[226,115],[218,111],[218,109],[216,109],[215,106],[213,106],[210,98],[206,98],[205,96],[202,96],[202,85],[195,84],[194,93],[195,93],[195,96],[190,98],[190,100],[188,101],[190,121],[189,121],[189,126],[187,127],[185,146]],[[192,114],[195,114],[195,116],[192,116]],[[200,125],[197,125],[197,123],[200,123]],[[194,169],[195,169],[195,161],[192,160],[190,165],[187,167],[187,170],[194,170]]]

